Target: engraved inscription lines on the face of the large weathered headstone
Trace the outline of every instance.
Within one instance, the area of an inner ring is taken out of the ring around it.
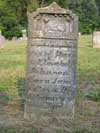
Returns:
[[[31,99],[35,97],[37,99],[35,101],[39,102],[39,106],[42,106],[45,102],[48,108],[49,106],[52,108],[53,106],[56,106],[56,108],[63,107],[68,101],[71,101],[75,88],[72,80],[75,77],[72,67],[76,61],[75,56],[75,48],[31,45],[27,76],[31,88],[29,97],[32,97]],[[41,96],[43,98],[39,99],[38,97]],[[58,99],[59,97],[60,99]],[[61,98],[63,102],[61,102]],[[34,102],[33,105],[37,107],[37,102]],[[56,108],[53,108],[53,110]]]

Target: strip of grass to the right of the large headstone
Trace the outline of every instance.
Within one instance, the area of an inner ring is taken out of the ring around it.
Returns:
[[[100,49],[92,48],[92,36],[78,43],[77,132],[100,133]],[[81,129],[80,129],[81,128]],[[84,130],[83,130],[84,129]]]

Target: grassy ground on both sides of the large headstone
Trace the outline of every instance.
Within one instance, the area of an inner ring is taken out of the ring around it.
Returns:
[[[23,119],[26,46],[22,40],[7,41],[0,49],[0,133],[4,128],[34,130]],[[79,37],[77,77],[73,133],[100,133],[100,49],[92,48],[91,35]]]

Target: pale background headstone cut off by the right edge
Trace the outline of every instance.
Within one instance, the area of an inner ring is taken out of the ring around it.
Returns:
[[[93,33],[93,48],[100,48],[100,31]]]

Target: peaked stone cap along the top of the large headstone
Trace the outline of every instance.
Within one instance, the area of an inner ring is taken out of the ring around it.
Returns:
[[[69,15],[72,19],[76,18],[77,16],[72,13],[72,11],[68,9],[61,8],[56,2],[53,2],[47,7],[38,8],[35,12],[32,12],[31,15],[36,17],[38,14],[62,14],[62,15]],[[28,12],[28,15],[30,13]]]

